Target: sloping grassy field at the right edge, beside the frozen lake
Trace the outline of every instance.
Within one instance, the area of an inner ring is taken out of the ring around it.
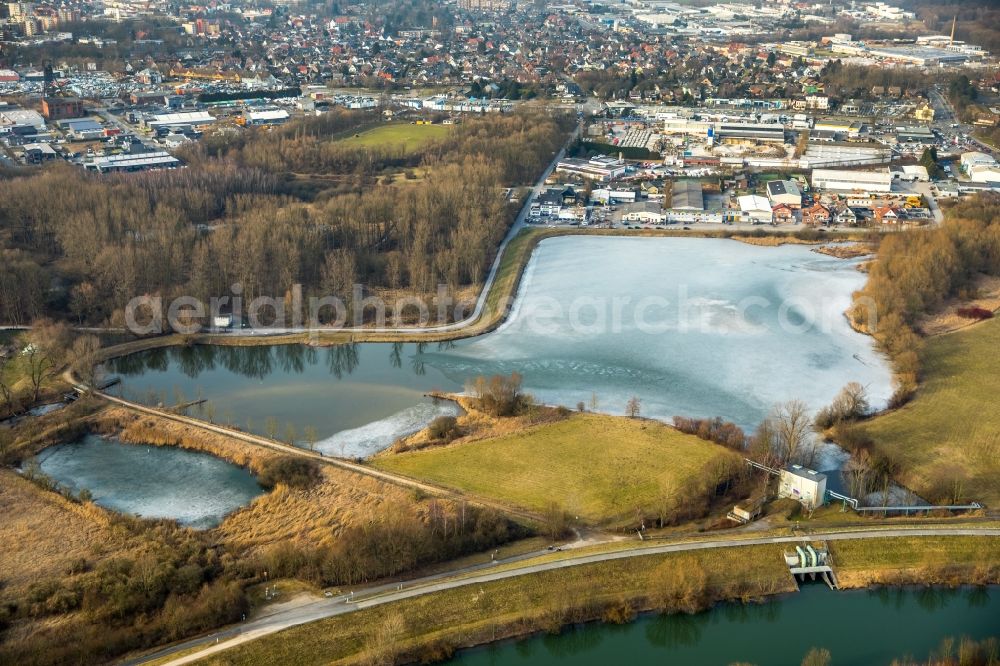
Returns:
[[[924,383],[902,409],[865,425],[901,480],[934,500],[1000,505],[1000,319],[930,338]]]

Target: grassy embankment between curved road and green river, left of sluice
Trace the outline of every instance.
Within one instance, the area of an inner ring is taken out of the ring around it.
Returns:
[[[778,546],[650,555],[447,590],[293,627],[207,663],[382,663],[375,659],[381,650],[410,661],[440,659],[458,646],[585,619],[619,618],[609,610],[658,607],[662,602],[651,597],[669,592],[676,581],[671,572],[695,570],[705,572],[706,598],[752,598],[794,589]]]

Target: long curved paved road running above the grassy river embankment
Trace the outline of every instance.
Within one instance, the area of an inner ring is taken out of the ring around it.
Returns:
[[[903,536],[1000,536],[998,528],[975,528],[975,527],[936,527],[936,528],[913,528],[913,529],[863,529],[849,532],[816,532],[807,536],[766,536],[754,538],[729,538],[715,539],[711,541],[698,541],[686,543],[668,543],[659,546],[640,546],[606,553],[593,553],[590,555],[579,555],[561,560],[542,562],[539,564],[525,564],[524,566],[512,567],[503,571],[485,571],[484,573],[465,575],[461,578],[449,578],[455,573],[465,573],[467,570],[453,572],[451,574],[438,574],[407,581],[402,584],[402,589],[395,589],[395,586],[380,586],[371,590],[366,590],[361,594],[356,594],[353,599],[340,597],[336,599],[323,599],[312,603],[303,604],[285,611],[279,611],[266,617],[251,620],[238,627],[232,627],[219,632],[215,632],[192,641],[187,641],[166,650],[156,652],[145,657],[126,662],[127,665],[142,664],[154,659],[161,659],[170,654],[176,654],[208,645],[203,650],[194,654],[178,657],[167,662],[169,666],[180,666],[181,664],[193,663],[199,659],[212,654],[217,654],[229,648],[235,647],[269,634],[276,633],[283,629],[293,627],[307,622],[315,622],[336,615],[352,613],[365,608],[372,608],[383,604],[402,601],[425,594],[442,592],[469,585],[481,585],[519,576],[541,573],[543,571],[554,571],[568,567],[577,567],[585,564],[598,562],[609,562],[613,560],[628,559],[632,557],[643,557],[646,555],[658,555],[665,553],[678,553],[684,551],[709,550],[718,548],[733,548],[740,546],[752,546],[762,544],[782,544],[801,543],[804,541],[841,541],[848,539],[884,539]],[[534,555],[534,554],[533,554]],[[532,555],[532,556],[533,556]],[[520,558],[520,559],[523,559]],[[495,565],[506,564],[516,561],[513,558],[505,562],[497,562]],[[396,584],[398,585],[398,584]],[[388,591],[387,591],[388,587]]]

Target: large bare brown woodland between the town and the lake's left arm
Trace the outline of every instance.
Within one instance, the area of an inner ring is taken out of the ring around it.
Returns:
[[[402,147],[338,139],[378,123],[334,111],[273,132],[208,136],[176,171],[96,176],[56,165],[0,174],[0,321],[120,322],[134,296],[342,296],[478,284],[572,119],[469,120]]]

